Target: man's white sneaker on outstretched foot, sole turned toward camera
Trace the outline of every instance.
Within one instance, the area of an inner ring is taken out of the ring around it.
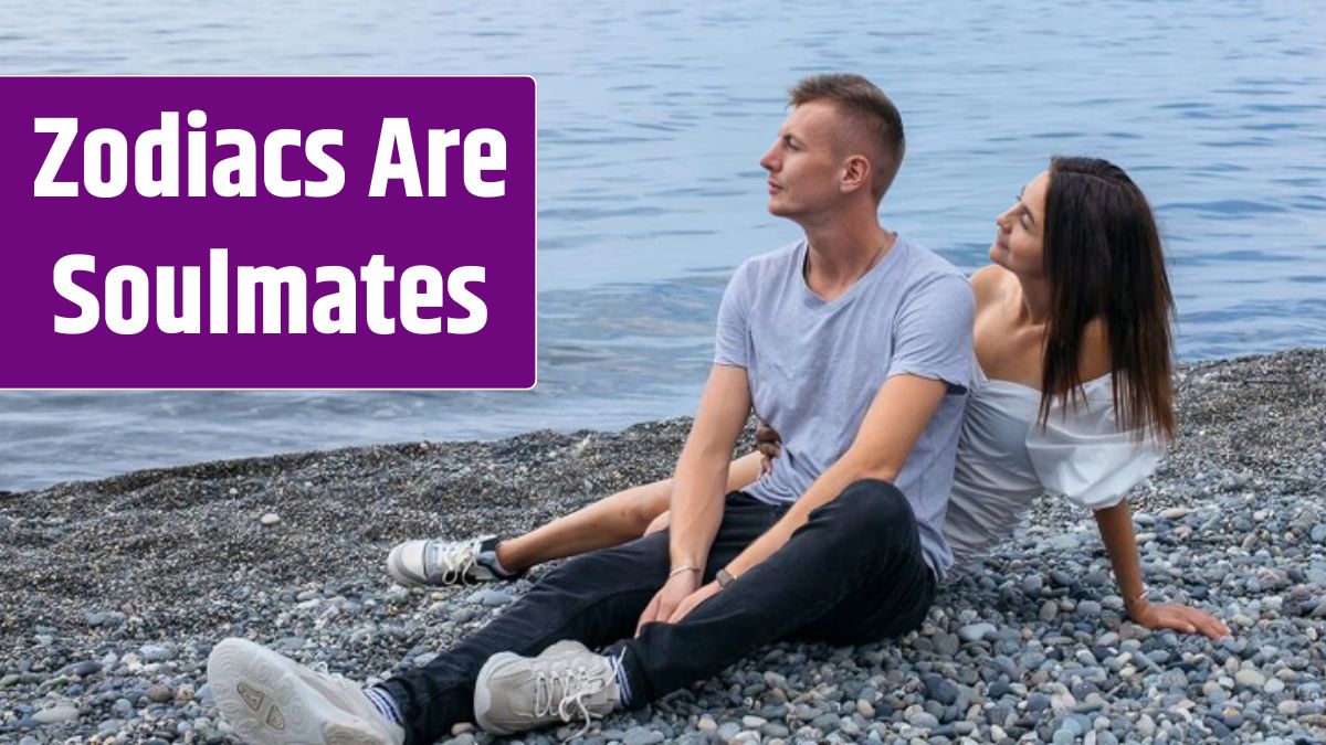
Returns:
[[[207,658],[221,717],[253,745],[403,745],[406,730],[387,721],[363,688],[244,639],[225,639]]]

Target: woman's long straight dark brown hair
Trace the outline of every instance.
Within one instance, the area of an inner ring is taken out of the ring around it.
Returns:
[[[1045,277],[1050,286],[1041,423],[1054,399],[1075,402],[1078,361],[1093,319],[1109,330],[1119,423],[1172,440],[1170,380],[1174,297],[1160,233],[1142,190],[1095,158],[1054,158],[1045,195]]]

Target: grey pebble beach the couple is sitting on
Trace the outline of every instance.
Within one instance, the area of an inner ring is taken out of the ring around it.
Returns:
[[[1091,514],[1046,497],[943,587],[919,631],[847,648],[773,644],[572,741],[1326,740],[1326,350],[1184,365],[1176,390],[1180,440],[1130,494],[1143,574],[1152,601],[1201,607],[1231,639],[1127,622]],[[0,492],[0,742],[237,742],[206,680],[227,636],[357,680],[426,663],[541,570],[406,590],[383,570],[395,542],[514,534],[666,477],[688,427],[281,455]],[[493,741],[467,724],[451,734]]]

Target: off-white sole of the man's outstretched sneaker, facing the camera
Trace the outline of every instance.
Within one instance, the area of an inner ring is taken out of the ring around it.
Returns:
[[[207,681],[235,734],[253,745],[383,745],[363,720],[310,692],[290,664],[244,639],[212,650]]]

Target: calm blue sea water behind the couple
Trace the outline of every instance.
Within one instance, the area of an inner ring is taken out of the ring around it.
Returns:
[[[690,414],[728,273],[797,236],[765,212],[758,167],[784,91],[833,69],[906,118],[890,228],[975,269],[1049,155],[1110,158],[1158,209],[1184,359],[1326,346],[1318,0],[0,9],[4,73],[533,74],[541,239],[534,391],[0,392],[0,489]]]

